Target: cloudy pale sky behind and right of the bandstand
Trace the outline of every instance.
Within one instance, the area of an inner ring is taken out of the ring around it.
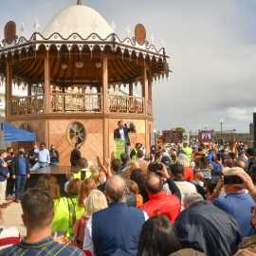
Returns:
[[[0,38],[9,20],[30,37],[38,19],[46,24],[76,0],[0,0]],[[154,82],[154,127],[168,130],[181,126],[187,131],[207,127],[248,132],[256,112],[256,1],[255,0],[82,0],[96,9],[116,33],[141,23],[154,45],[163,38],[173,73],[168,81]]]

